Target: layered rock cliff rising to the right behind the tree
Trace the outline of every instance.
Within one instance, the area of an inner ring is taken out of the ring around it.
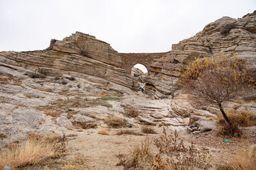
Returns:
[[[182,70],[195,57],[238,55],[247,61],[249,69],[256,73],[256,16],[245,18],[223,17],[209,23],[195,36],[172,45],[172,50],[163,57],[156,59],[146,77],[146,91],[156,98],[171,94],[171,78],[174,77],[174,87],[178,89],[178,77]],[[163,67],[163,62],[170,61],[172,72]]]

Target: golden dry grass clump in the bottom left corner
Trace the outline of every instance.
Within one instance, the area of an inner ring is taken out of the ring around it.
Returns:
[[[20,144],[0,149],[0,169],[8,165],[12,169],[23,167],[34,162],[39,162],[47,157],[52,157],[54,145],[46,140],[26,140]]]

